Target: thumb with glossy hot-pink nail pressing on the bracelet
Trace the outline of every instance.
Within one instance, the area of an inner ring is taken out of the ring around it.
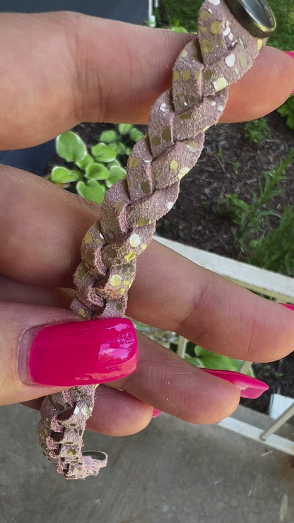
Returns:
[[[136,368],[129,319],[84,322],[67,310],[7,302],[0,317],[1,405],[118,380]]]

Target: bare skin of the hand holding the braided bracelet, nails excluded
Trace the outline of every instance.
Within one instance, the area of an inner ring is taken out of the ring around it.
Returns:
[[[146,123],[189,38],[76,13],[1,14],[0,148],[34,146],[78,122]],[[262,49],[230,88],[222,121],[261,117],[293,86],[293,59]],[[37,408],[41,396],[58,389],[20,383],[18,339],[29,327],[76,319],[66,310],[72,291],[64,288],[99,207],[4,165],[0,187],[0,404]],[[155,242],[139,257],[127,314],[234,358],[266,362],[293,351],[292,311]],[[240,394],[233,384],[138,339],[137,370],[98,387],[90,430],[135,433],[153,407],[191,423],[215,423],[234,411]]]

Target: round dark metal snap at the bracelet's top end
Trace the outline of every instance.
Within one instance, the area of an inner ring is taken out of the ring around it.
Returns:
[[[257,38],[274,33],[276,19],[266,0],[225,0],[237,21]]]

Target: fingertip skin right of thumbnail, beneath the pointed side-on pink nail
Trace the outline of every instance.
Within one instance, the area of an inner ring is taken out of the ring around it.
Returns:
[[[217,423],[235,411],[240,392],[232,384],[182,360],[167,348],[138,333],[139,360],[135,372],[110,382],[155,409],[189,423]]]

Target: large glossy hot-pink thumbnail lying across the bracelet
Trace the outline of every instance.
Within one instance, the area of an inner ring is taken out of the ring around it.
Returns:
[[[26,384],[105,383],[131,374],[136,363],[136,332],[129,319],[33,327],[18,345],[18,376]]]

